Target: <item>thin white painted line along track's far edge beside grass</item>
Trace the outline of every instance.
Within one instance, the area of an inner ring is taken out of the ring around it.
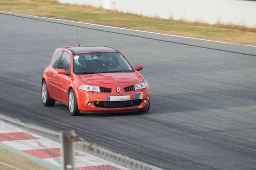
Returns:
[[[0,12],[10,13],[10,14],[17,14],[17,15],[24,15],[24,16],[29,16],[29,17],[38,17],[38,16],[33,16],[33,15],[27,15],[27,14],[18,14],[18,13],[14,13],[14,12],[6,12],[6,11],[0,11]],[[163,34],[163,33],[157,33],[157,32],[141,31],[141,30],[136,30],[136,29],[125,29],[125,28],[114,27],[114,26],[104,26],[104,25],[93,24],[93,23],[82,23],[82,22],[77,22],[77,21],[61,20],[61,19],[56,19],[56,18],[48,18],[48,17],[38,17],[38,18],[44,18],[44,19],[49,19],[49,20],[60,20],[60,21],[66,21],[66,22],[72,22],[72,23],[81,23],[81,24],[87,24],[87,25],[93,25],[93,26],[102,26],[102,27],[108,27],[108,28],[114,28],[114,29],[124,29],[124,30],[128,30],[128,31],[145,32],[145,33],[157,34],[157,35],[167,35],[167,36],[173,36],[173,37],[190,38],[190,39],[194,39],[194,40],[212,41],[212,42],[216,42],[216,43],[227,43],[227,44],[234,44],[234,45],[241,45],[241,46],[252,46],[252,45],[245,45],[245,44],[228,43],[228,42],[224,42],[224,41],[215,41],[215,40],[207,40],[207,39],[201,39],[201,38],[185,37],[185,36],[180,36],[180,35],[172,35],[172,34]],[[256,47],[256,46],[252,46],[252,47]]]

